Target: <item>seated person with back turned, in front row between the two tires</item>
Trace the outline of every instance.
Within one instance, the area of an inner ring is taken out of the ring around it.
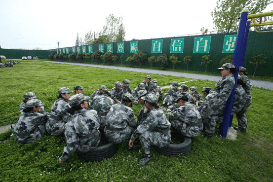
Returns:
[[[104,135],[109,142],[113,144],[121,144],[127,140],[138,125],[138,121],[134,114],[133,102],[134,97],[125,93],[119,104],[115,104],[111,107],[110,111],[106,115],[106,126],[104,128]],[[134,146],[140,147],[140,146]],[[127,147],[127,149],[129,146]]]

